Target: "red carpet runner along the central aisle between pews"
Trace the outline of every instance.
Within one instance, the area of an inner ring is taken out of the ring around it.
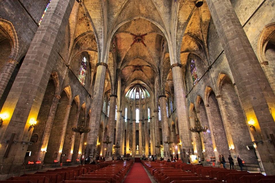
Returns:
[[[134,163],[123,183],[151,183],[141,163]]]

